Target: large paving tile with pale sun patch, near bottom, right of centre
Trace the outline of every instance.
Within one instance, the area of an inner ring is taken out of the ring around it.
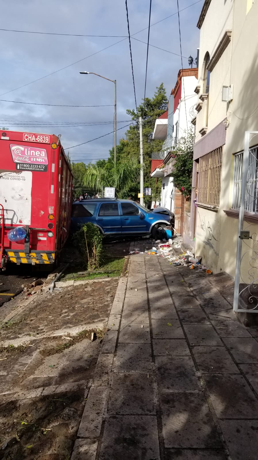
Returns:
[[[160,403],[165,448],[220,447],[219,435],[202,393],[162,394]]]

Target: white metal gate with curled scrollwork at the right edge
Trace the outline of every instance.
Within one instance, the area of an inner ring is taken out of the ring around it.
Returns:
[[[240,204],[233,308],[253,313],[258,313],[258,224],[244,213],[258,217],[258,148],[250,148],[256,136],[258,131],[246,131],[244,152],[235,157],[233,198],[233,207]]]

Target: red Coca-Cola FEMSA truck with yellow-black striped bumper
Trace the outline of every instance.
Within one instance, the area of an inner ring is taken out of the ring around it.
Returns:
[[[67,240],[73,175],[53,134],[0,130],[0,267],[54,264]],[[12,232],[22,227],[20,241]],[[10,241],[11,240],[11,241]]]

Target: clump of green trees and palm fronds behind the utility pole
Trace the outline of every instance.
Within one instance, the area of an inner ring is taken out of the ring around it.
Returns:
[[[145,106],[137,107],[138,116],[143,119],[143,152],[144,152],[144,186],[151,187],[152,196],[145,196],[145,202],[157,199],[161,193],[161,179],[151,178],[151,154],[162,149],[162,140],[153,140],[152,134],[156,119],[164,113],[168,106],[168,99],[163,83],[157,86],[152,98],[145,99]],[[109,150],[107,160],[99,160],[90,165],[83,179],[83,184],[95,187],[101,191],[102,186],[115,187],[119,197],[136,198],[140,191],[140,137],[138,116],[135,109],[127,110],[135,124],[125,133],[117,145],[117,166],[114,166],[114,148]]]

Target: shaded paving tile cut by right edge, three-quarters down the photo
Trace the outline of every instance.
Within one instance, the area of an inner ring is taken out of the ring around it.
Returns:
[[[243,364],[258,363],[258,343],[255,339],[224,339],[236,362]]]

